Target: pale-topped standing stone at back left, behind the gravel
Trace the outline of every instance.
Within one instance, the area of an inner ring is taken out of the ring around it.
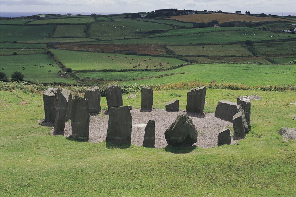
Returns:
[[[86,89],[84,98],[89,100],[89,113],[99,114],[101,111],[101,93],[99,87]]]

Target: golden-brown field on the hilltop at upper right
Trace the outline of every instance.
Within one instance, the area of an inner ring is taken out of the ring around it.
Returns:
[[[252,21],[252,22],[262,22],[262,21],[289,21],[288,19],[280,19],[273,17],[256,17],[248,16],[244,14],[226,14],[226,13],[213,13],[213,14],[194,14],[194,15],[182,15],[173,16],[170,19],[176,19],[184,22],[210,22],[212,20],[218,20],[221,22],[231,22],[231,21]]]

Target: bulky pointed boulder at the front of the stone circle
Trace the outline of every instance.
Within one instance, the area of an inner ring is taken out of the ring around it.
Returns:
[[[188,147],[197,142],[197,131],[193,121],[186,114],[178,115],[177,119],[165,131],[168,145]]]

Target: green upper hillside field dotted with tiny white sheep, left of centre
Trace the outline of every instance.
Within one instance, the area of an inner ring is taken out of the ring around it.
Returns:
[[[91,23],[89,34],[91,38],[100,40],[117,40],[146,37],[149,31],[169,29],[172,29],[169,25],[118,18],[115,21]]]

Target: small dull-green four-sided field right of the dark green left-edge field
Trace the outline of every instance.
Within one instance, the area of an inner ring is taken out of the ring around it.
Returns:
[[[57,25],[52,37],[86,37],[86,25]]]

